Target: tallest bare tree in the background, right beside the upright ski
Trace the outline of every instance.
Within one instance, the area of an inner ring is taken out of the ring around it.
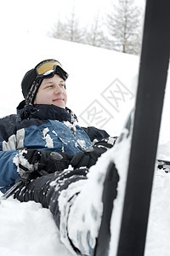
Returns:
[[[139,54],[142,36],[142,9],[133,0],[118,0],[107,16],[110,48]]]

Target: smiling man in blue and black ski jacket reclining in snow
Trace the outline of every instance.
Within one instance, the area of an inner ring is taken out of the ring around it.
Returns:
[[[88,180],[88,168],[113,146],[115,138],[111,141],[106,131],[77,125],[76,115],[66,107],[67,78],[59,61],[53,59],[41,61],[24,76],[21,88],[25,100],[17,114],[0,119],[0,189],[5,193],[18,178],[24,179],[25,186],[14,198],[49,208],[65,246],[76,255],[90,255],[95,243],[91,248],[86,238],[71,241],[68,214],[73,197],[78,198]],[[67,194],[65,203],[59,200],[61,194],[66,195],[62,192]],[[82,230],[83,237],[87,229]]]

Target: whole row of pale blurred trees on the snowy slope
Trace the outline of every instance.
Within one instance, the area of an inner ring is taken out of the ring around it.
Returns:
[[[76,15],[73,4],[70,14],[64,20],[58,15],[50,36],[138,55],[141,48],[143,16],[144,10],[133,0],[117,0],[112,3],[109,14],[101,16],[98,11],[94,20],[89,21],[90,25],[82,26],[81,17]]]

